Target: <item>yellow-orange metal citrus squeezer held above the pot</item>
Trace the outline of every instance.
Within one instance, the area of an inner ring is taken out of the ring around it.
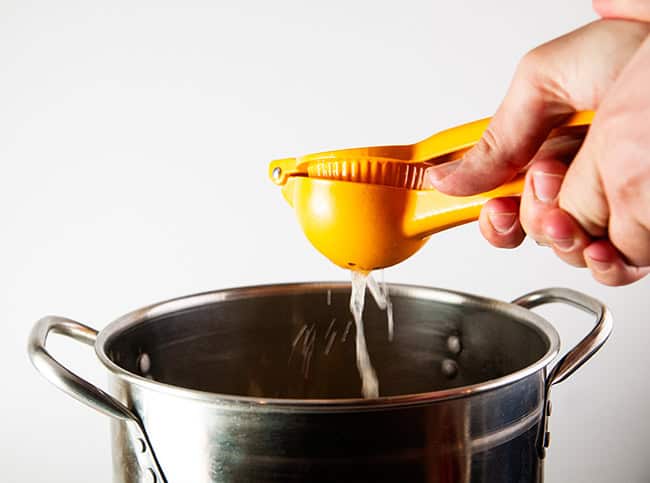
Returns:
[[[593,112],[581,111],[550,137],[584,136]],[[370,271],[413,255],[441,230],[478,219],[490,199],[520,195],[524,174],[473,196],[423,189],[425,170],[462,157],[490,119],[402,146],[377,146],[273,161],[271,180],[294,208],[309,241],[343,268]]]

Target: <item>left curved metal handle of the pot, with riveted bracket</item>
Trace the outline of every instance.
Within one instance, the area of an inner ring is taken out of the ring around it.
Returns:
[[[93,346],[97,339],[97,331],[64,317],[43,317],[34,325],[29,334],[27,346],[29,358],[34,367],[48,381],[66,394],[81,401],[86,406],[126,422],[132,436],[140,441],[142,451],[138,452],[137,457],[145,473],[149,473],[149,479],[157,482],[167,481],[160,469],[140,418],[113,396],[77,376],[52,357],[46,348],[47,338],[50,333],[61,334]]]

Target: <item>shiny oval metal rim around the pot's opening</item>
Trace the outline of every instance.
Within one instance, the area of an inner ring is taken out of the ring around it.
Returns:
[[[394,296],[410,297],[424,300],[432,300],[450,304],[470,304],[487,308],[491,311],[501,312],[518,322],[536,330],[549,344],[546,353],[534,363],[507,374],[505,376],[483,381],[468,386],[460,386],[451,389],[430,391],[424,393],[404,394],[398,396],[384,396],[373,399],[358,398],[337,398],[337,399],[279,399],[261,398],[252,396],[240,396],[234,394],[222,394],[198,389],[189,389],[182,386],[175,386],[164,382],[154,381],[138,374],[127,371],[113,362],[106,354],[106,346],[113,337],[117,337],[140,323],[169,315],[173,312],[187,310],[201,305],[210,305],[219,302],[238,300],[242,298],[277,296],[290,293],[324,292],[326,290],[349,289],[349,282],[298,282],[243,286],[235,288],[220,289],[208,292],[201,292],[181,296],[166,301],[158,302],[146,307],[131,311],[117,320],[109,323],[99,332],[95,341],[95,353],[101,363],[116,377],[130,384],[140,386],[143,389],[154,390],[170,396],[183,399],[200,400],[216,405],[237,405],[249,406],[252,409],[287,409],[296,410],[349,410],[349,409],[384,409],[393,406],[410,406],[414,404],[426,404],[448,399],[469,397],[478,393],[495,390],[514,382],[520,381],[540,370],[545,369],[557,356],[560,348],[560,337],[547,320],[529,309],[516,304],[503,302],[479,295],[472,295],[463,292],[446,290],[434,287],[406,284],[387,284],[389,292]]]

